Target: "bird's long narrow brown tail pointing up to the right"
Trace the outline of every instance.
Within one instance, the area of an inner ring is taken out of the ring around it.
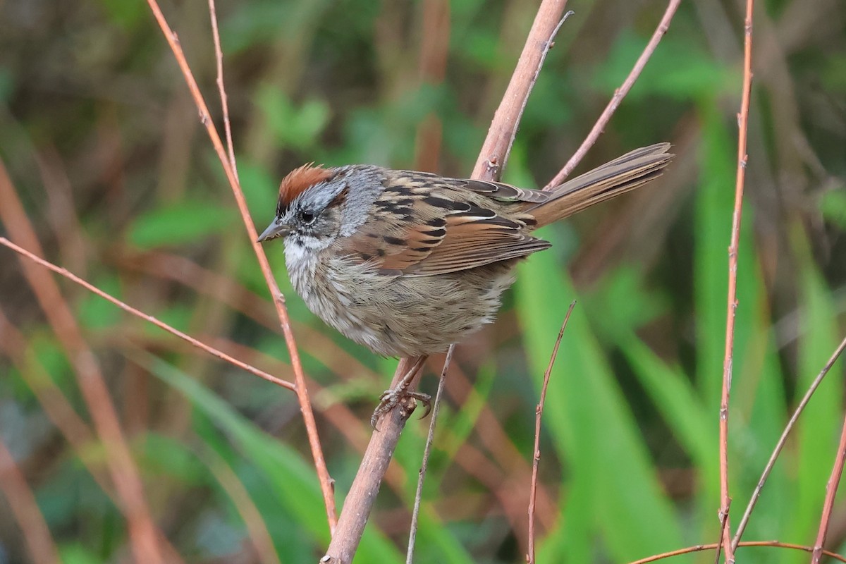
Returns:
[[[572,216],[591,205],[616,198],[661,176],[673,159],[669,143],[658,143],[618,156],[602,167],[552,189],[552,198],[525,211],[535,216],[538,227]]]

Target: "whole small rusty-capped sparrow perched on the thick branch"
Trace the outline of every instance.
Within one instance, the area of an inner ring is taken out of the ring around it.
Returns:
[[[284,239],[294,288],[328,325],[376,354],[425,358],[494,320],[514,266],[550,246],[534,230],[657,178],[669,148],[631,151],[549,191],[307,164],[283,178],[258,240]],[[407,387],[388,394],[391,407]]]

